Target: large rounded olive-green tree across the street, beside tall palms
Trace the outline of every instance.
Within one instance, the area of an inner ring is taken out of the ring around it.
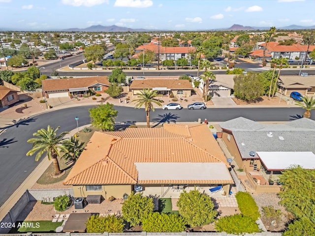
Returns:
[[[236,75],[233,80],[234,95],[241,100],[250,102],[264,94],[263,86],[257,73],[249,72],[247,75]]]

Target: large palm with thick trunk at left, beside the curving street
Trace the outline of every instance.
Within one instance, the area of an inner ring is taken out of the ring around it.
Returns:
[[[59,128],[60,126],[54,129],[50,125],[48,125],[47,130],[43,128],[37,130],[36,133],[33,133],[33,136],[36,136],[38,138],[32,138],[27,141],[28,143],[32,143],[33,146],[32,149],[26,153],[26,155],[32,156],[34,153],[37,152],[35,156],[35,161],[38,161],[44,153],[47,153],[48,159],[53,159],[55,176],[61,174],[59,162],[57,159],[57,157],[60,156],[59,150],[67,152],[67,150],[61,144],[63,136],[68,132],[62,132],[61,134],[57,135],[57,130]]]

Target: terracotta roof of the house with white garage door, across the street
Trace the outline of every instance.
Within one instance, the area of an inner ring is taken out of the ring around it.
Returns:
[[[94,84],[103,84],[109,86],[107,76],[83,77],[83,78],[67,78],[67,79],[46,79],[43,80],[44,89],[63,90],[74,88],[88,88]]]

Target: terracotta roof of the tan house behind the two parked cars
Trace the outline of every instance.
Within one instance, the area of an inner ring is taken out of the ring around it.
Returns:
[[[168,89],[192,89],[188,80],[173,79],[143,79],[133,80],[130,89],[147,89],[147,88],[168,88]]]

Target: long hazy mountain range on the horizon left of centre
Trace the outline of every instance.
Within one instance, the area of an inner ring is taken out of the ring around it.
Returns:
[[[142,31],[151,31],[148,29],[131,29],[126,27],[120,27],[120,26],[90,26],[88,28],[79,29],[79,28],[72,28],[72,29],[63,29],[62,31],[86,31],[86,32],[142,32]]]

